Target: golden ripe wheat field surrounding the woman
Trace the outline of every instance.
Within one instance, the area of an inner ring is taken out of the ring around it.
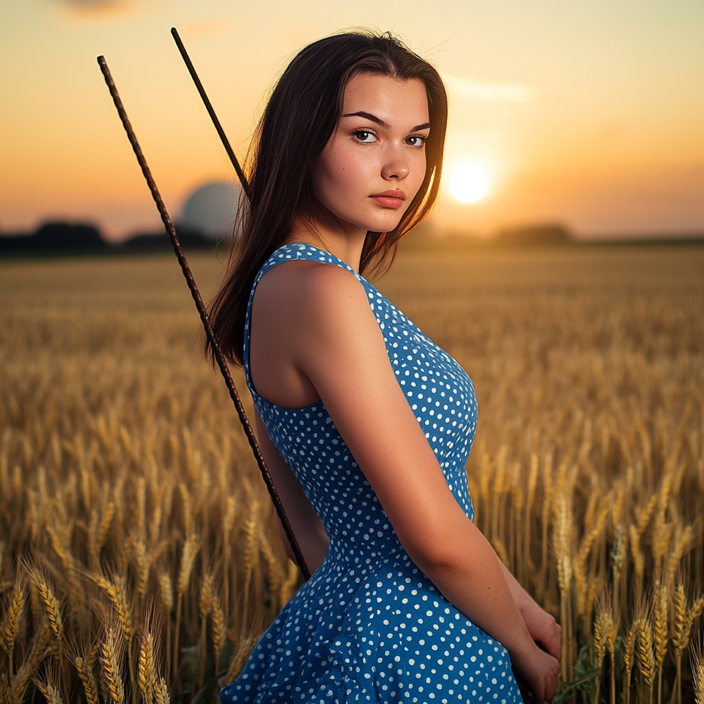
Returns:
[[[472,377],[556,699],[704,702],[704,247],[415,246],[377,285]],[[0,704],[215,701],[301,579],[175,259],[6,261],[0,297]]]

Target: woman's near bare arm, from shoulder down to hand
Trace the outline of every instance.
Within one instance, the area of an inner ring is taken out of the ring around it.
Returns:
[[[292,377],[310,384],[415,564],[508,649],[536,700],[550,699],[559,664],[536,646],[494,549],[448,488],[363,287],[341,268],[291,262],[268,272],[259,289],[257,325],[276,331],[281,355],[270,369],[290,364]],[[258,375],[270,371],[262,365]]]

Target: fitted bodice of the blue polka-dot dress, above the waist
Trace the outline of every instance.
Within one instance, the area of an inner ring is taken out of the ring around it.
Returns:
[[[249,322],[254,291],[266,272],[294,259],[339,266],[358,279],[382,331],[398,384],[438,458],[450,490],[472,519],[474,509],[465,465],[477,427],[477,397],[470,377],[388,298],[342,260],[308,244],[286,245],[272,254],[254,281],[244,335],[244,369],[257,412],[325,525],[331,550],[339,543],[351,543],[365,551],[378,550],[382,545],[384,549],[395,548],[389,541],[397,539],[322,401],[306,408],[281,408],[259,396],[252,384]]]

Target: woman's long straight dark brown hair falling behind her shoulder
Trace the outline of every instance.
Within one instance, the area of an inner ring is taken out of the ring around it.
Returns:
[[[222,353],[244,363],[244,325],[257,272],[282,245],[294,217],[314,225],[311,167],[332,136],[348,82],[373,73],[425,84],[431,130],[425,178],[391,232],[367,232],[360,274],[384,272],[398,242],[429,213],[437,198],[447,128],[447,94],[435,68],[389,32],[355,31],[319,39],[289,63],[272,91],[246,159],[249,201],[240,199],[230,257],[210,304],[210,322]],[[206,355],[213,350],[206,342]]]

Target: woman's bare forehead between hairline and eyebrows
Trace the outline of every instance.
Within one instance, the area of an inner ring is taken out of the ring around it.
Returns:
[[[342,114],[364,111],[383,118],[389,124],[428,121],[428,99],[425,85],[413,78],[398,80],[377,73],[358,73],[345,88]],[[394,118],[389,120],[387,118]]]

